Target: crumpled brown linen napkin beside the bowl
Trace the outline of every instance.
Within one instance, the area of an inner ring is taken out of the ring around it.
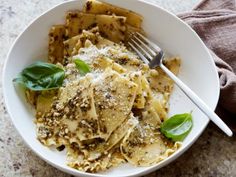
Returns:
[[[210,49],[220,79],[216,112],[236,132],[236,3],[203,0],[193,11],[178,15]]]

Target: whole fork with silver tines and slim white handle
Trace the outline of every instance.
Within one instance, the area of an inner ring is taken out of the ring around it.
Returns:
[[[223,132],[228,136],[233,133],[229,127],[211,110],[207,104],[197,96],[187,85],[185,85],[178,77],[176,77],[165,65],[162,63],[164,52],[154,44],[152,41],[144,37],[142,34],[136,32],[131,34],[128,45],[140,56],[144,63],[148,64],[150,68],[159,66],[188,96],[190,100],[209,117]]]

